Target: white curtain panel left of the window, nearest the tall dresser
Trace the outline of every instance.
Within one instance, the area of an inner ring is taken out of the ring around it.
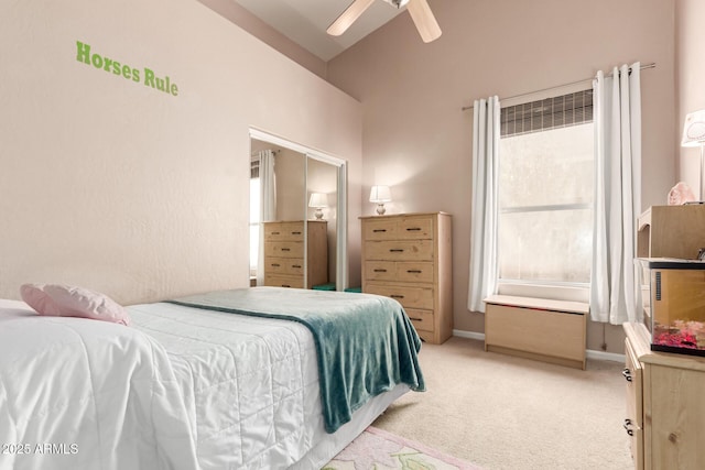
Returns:
[[[497,291],[497,182],[499,98],[475,101],[473,124],[473,208],[467,308],[485,313],[482,299]]]

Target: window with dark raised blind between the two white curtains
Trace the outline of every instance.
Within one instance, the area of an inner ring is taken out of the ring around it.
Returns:
[[[593,90],[501,110],[499,282],[589,283]]]

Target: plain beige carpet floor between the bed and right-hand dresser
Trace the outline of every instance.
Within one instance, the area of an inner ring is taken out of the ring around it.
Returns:
[[[623,363],[582,371],[458,337],[424,343],[419,360],[427,392],[397,400],[376,428],[489,470],[633,470]]]

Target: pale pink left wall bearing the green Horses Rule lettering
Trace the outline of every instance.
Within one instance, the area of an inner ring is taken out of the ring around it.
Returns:
[[[205,6],[69,3],[0,2],[0,298],[25,282],[123,304],[249,285],[252,128],[360,181],[360,103]],[[77,41],[178,96],[77,61]]]

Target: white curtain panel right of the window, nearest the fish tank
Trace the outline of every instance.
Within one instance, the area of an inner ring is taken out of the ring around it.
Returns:
[[[601,70],[593,81],[595,223],[590,316],[619,325],[640,321],[636,282],[636,223],[641,208],[640,64]]]

